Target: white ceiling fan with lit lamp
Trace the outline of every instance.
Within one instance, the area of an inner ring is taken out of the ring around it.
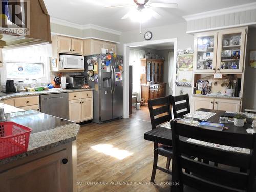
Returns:
[[[140,33],[142,23],[149,20],[151,17],[156,19],[161,15],[153,10],[153,8],[178,8],[176,3],[152,3],[150,0],[133,0],[135,4],[106,6],[106,8],[133,7],[122,19],[131,18],[135,22],[140,22]]]

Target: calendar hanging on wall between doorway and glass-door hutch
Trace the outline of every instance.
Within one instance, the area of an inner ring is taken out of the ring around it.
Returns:
[[[193,51],[183,50],[177,53],[177,86],[192,86],[193,76]]]

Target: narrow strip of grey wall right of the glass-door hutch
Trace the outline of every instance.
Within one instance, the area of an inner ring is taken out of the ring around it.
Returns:
[[[243,109],[256,109],[256,69],[249,66],[250,50],[256,50],[256,29],[249,28],[245,60]]]

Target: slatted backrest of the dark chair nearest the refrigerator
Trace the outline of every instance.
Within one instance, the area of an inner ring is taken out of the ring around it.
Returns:
[[[147,102],[152,129],[155,129],[157,125],[172,119],[172,113],[170,112],[170,96],[148,99]]]

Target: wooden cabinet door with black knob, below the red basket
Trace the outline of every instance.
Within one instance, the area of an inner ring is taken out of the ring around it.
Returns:
[[[0,173],[0,191],[72,191],[72,160],[62,150]]]

